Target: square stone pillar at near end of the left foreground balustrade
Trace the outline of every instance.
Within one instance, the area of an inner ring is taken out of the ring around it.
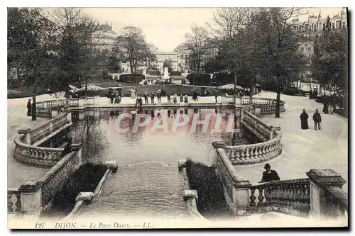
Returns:
[[[21,211],[25,215],[39,217],[42,209],[42,189],[36,181],[26,181],[20,188]]]

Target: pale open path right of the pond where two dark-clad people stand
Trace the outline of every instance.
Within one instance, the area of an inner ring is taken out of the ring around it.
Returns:
[[[275,99],[273,92],[263,91],[256,97]],[[280,118],[274,115],[262,116],[268,125],[280,126],[283,154],[269,161],[271,169],[275,169],[281,179],[306,178],[310,169],[334,169],[348,181],[348,120],[337,114],[322,114],[322,103],[302,96],[281,94],[285,101],[286,111],[280,113]],[[309,130],[301,130],[300,113],[306,109]],[[322,130],[314,130],[312,120],[315,109],[322,116]],[[263,164],[247,167],[236,167],[238,174],[247,176],[252,183],[261,181]],[[344,184],[344,191],[348,191]]]

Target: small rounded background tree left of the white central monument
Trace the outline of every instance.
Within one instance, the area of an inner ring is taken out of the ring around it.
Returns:
[[[147,58],[155,60],[155,47],[146,43],[145,36],[140,28],[126,26],[121,30],[117,38],[115,51],[123,62],[129,62],[131,73],[136,79],[136,70],[139,63],[146,62]]]

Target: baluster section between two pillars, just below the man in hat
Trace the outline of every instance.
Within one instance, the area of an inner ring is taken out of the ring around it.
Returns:
[[[310,179],[272,181],[250,190],[251,213],[279,211],[302,217],[310,213]]]

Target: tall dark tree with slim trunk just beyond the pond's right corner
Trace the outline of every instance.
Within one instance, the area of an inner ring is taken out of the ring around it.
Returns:
[[[293,8],[261,9],[253,18],[256,72],[279,89],[276,96],[275,118],[280,117],[280,93],[288,80],[298,76],[305,64],[298,52],[298,39],[290,28],[289,19],[299,11]]]

